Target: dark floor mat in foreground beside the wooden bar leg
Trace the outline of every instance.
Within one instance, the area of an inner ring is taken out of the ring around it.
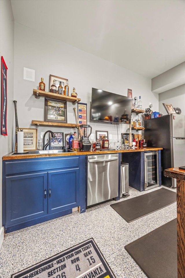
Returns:
[[[177,278],[177,218],[125,249],[148,278]]]

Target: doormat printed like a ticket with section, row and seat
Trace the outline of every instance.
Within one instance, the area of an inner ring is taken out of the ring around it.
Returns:
[[[11,278],[116,278],[93,238],[11,275]]]

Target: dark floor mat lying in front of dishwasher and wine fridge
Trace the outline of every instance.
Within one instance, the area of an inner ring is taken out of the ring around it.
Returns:
[[[128,223],[177,201],[177,193],[169,189],[158,190],[110,205]]]

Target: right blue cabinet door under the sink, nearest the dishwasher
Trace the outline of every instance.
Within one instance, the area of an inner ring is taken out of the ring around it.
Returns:
[[[79,206],[79,168],[48,173],[48,213]]]

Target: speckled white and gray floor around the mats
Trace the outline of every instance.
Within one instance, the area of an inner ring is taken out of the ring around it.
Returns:
[[[160,190],[160,187],[143,192],[129,187],[130,196],[118,202],[153,190]],[[75,211],[70,215],[6,234],[0,250],[0,277],[10,278],[11,274],[90,237],[94,238],[117,278],[147,277],[124,246],[177,217],[177,204],[175,202],[127,223],[111,208],[110,204],[115,202],[95,206],[82,214]]]

